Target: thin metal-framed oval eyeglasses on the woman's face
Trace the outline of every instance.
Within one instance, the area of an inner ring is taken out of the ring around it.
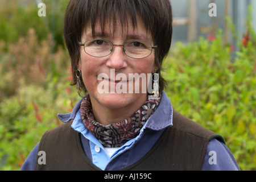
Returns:
[[[108,40],[92,39],[86,41],[84,44],[79,42],[79,46],[84,46],[84,51],[93,57],[105,57],[113,52],[114,46],[122,46],[123,52],[126,56],[134,59],[142,59],[148,57],[152,53],[152,49],[157,46],[151,46],[150,43],[142,41],[131,41],[125,44],[113,44]]]

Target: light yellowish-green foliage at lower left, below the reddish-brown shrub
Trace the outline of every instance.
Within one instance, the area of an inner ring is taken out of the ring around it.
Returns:
[[[46,89],[21,84],[15,96],[0,103],[0,169],[19,170],[44,132],[60,125],[57,113],[70,112],[79,99],[67,88],[68,82],[57,80]]]

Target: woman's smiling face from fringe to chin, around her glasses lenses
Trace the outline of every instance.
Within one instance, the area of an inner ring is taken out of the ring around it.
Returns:
[[[95,37],[92,36],[92,28],[88,27],[81,36],[81,42],[85,43],[91,39],[104,39],[119,45],[130,41],[143,41],[155,46],[141,19],[137,20],[137,28],[134,29],[131,23],[127,27],[123,29],[120,23],[117,23],[114,31],[111,23],[106,23],[104,35],[102,35],[100,23],[96,23]],[[129,80],[129,73],[130,75],[136,73],[141,75],[143,73],[141,76],[146,77],[148,73],[154,73],[157,69],[154,64],[154,49],[150,56],[143,59],[133,59],[126,56],[123,52],[123,46],[114,46],[113,52],[105,57],[90,56],[85,53],[82,46],[80,53],[79,69],[93,106],[98,105],[109,109],[132,109],[135,111],[147,100],[147,93],[142,92],[142,87],[148,80],[146,82],[143,79],[134,81],[130,78]],[[119,82],[121,80],[122,82]],[[127,89],[120,86],[123,84],[127,86]],[[138,85],[139,93],[135,92],[135,86]],[[133,86],[133,89],[129,90],[131,86]],[[102,89],[109,92],[102,92]],[[125,92],[125,90],[127,91]]]

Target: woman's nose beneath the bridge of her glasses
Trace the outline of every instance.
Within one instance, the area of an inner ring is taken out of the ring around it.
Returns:
[[[127,67],[126,59],[127,59],[127,56],[123,52],[123,46],[114,45],[113,51],[110,54],[106,65],[112,69],[121,70]]]

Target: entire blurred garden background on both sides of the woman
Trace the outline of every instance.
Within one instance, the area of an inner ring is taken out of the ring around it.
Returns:
[[[46,5],[46,16],[39,16]],[[69,0],[0,2],[0,170],[19,170],[43,133],[80,100],[63,41]],[[164,61],[175,109],[221,134],[242,170],[256,169],[256,1],[171,0]],[[209,16],[210,3],[216,16]]]

